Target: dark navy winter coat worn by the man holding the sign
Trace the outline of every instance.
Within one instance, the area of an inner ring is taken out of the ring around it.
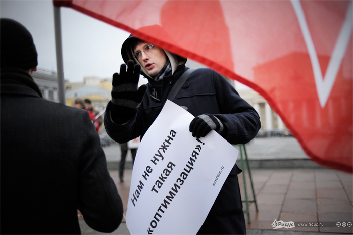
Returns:
[[[118,125],[109,118],[111,102],[104,119],[109,136],[119,143],[142,136],[162,110],[169,91],[188,68],[179,65],[173,76],[160,81],[149,79],[147,91],[136,115],[125,125]],[[157,101],[151,95],[157,91]],[[253,107],[238,95],[233,86],[220,74],[201,68],[192,72],[173,101],[194,116],[209,113],[219,118],[225,127],[223,137],[231,144],[245,144],[260,129],[260,117]],[[191,134],[191,133],[190,133]],[[221,157],[221,156],[215,156]],[[199,234],[245,234],[245,221],[237,174],[234,165],[224,183]]]

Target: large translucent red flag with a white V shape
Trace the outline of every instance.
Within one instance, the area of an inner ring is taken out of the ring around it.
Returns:
[[[353,172],[351,1],[54,1],[253,88],[315,162]],[[160,25],[169,35],[144,26]],[[176,43],[174,43],[174,41]]]

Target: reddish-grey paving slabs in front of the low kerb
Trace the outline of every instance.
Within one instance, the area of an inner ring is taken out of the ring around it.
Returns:
[[[111,171],[124,204],[124,213],[129,200],[131,169],[124,173],[120,183],[118,171]],[[246,174],[246,189],[249,200],[253,200],[251,184]],[[242,199],[245,199],[244,172],[239,175]],[[332,169],[255,169],[251,170],[258,212],[255,203],[249,203],[248,234],[352,234],[353,227],[332,226],[337,222],[352,222],[352,175]],[[246,203],[243,203],[246,211]],[[247,213],[245,220],[248,222]],[[293,227],[274,230],[277,221],[322,223],[323,227]],[[81,225],[83,221],[80,221]],[[331,223],[329,223],[331,222]],[[332,223],[333,222],[333,223]],[[327,227],[331,226],[331,227]],[[87,225],[82,225],[82,234],[97,234]],[[125,220],[113,234],[130,234]]]

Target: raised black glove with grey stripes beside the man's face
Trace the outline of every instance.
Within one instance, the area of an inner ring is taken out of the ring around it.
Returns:
[[[137,87],[140,69],[140,65],[134,65],[134,62],[129,60],[127,62],[127,71],[126,65],[122,64],[120,66],[120,74],[113,74],[110,115],[113,122],[117,124],[128,122],[137,112],[137,108],[142,102],[147,86]]]

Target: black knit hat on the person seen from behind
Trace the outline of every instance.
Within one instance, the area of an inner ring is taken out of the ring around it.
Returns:
[[[0,67],[28,70],[38,65],[31,33],[19,22],[0,19]]]

